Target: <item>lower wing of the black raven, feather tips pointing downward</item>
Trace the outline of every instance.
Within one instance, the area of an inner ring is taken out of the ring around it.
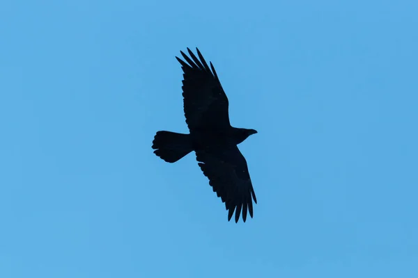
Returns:
[[[253,217],[252,199],[257,204],[256,194],[249,177],[247,161],[235,145],[229,149],[196,151],[199,166],[209,179],[209,184],[229,210],[228,221],[235,211],[235,222],[247,220],[247,210]],[[252,197],[252,199],[251,199]]]

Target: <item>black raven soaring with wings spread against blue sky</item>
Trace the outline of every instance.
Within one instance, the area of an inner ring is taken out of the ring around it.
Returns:
[[[235,211],[235,223],[253,218],[256,194],[251,183],[245,157],[238,145],[255,129],[242,129],[229,122],[229,100],[219,81],[215,67],[210,67],[196,47],[197,58],[187,47],[184,60],[176,59],[183,70],[183,110],[189,133],[157,131],[153,139],[154,154],[168,163],[175,163],[191,152],[213,192],[225,203],[228,221]],[[186,63],[187,62],[187,63]]]

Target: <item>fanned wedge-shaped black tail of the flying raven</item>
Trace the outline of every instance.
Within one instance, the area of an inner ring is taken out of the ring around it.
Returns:
[[[153,140],[154,154],[164,161],[173,163],[192,152],[190,134],[171,131],[158,131]]]

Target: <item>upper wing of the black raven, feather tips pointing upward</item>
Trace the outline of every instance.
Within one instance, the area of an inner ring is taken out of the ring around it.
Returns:
[[[197,49],[200,60],[189,51],[189,58],[180,51],[185,61],[176,57],[183,69],[183,106],[186,123],[189,129],[205,128],[229,128],[228,98],[219,82],[215,67],[210,63],[210,68]]]

